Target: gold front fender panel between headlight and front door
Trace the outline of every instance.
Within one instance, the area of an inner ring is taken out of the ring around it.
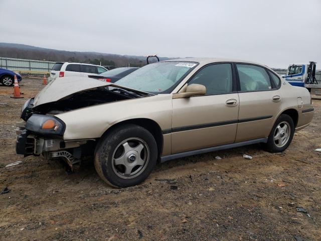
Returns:
[[[162,130],[172,125],[172,94],[109,102],[57,114],[66,124],[64,140],[100,138],[113,125],[146,118]]]

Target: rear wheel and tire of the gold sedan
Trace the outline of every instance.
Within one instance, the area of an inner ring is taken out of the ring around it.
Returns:
[[[270,132],[265,149],[272,153],[283,152],[290,145],[294,131],[293,119],[287,114],[281,114]]]

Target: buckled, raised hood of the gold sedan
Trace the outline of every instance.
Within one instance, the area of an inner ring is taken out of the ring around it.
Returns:
[[[88,78],[88,77],[79,77],[79,76],[63,77],[63,78],[57,78],[51,81],[45,88],[43,88],[36,95],[34,99],[33,107],[36,107],[41,104],[49,103],[49,102],[58,101],[74,93],[78,93],[78,92],[82,92],[90,89],[97,89],[98,87],[103,87],[107,85],[110,85],[113,87],[120,87],[127,90],[133,90],[135,92],[145,93],[134,89],[122,87],[113,83],[103,82],[101,80]]]

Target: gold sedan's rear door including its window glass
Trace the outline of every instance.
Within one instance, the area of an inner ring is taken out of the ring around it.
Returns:
[[[235,142],[266,138],[282,107],[279,86],[261,66],[243,63],[235,66],[240,98]]]

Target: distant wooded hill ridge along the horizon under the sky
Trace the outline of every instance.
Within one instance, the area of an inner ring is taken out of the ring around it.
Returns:
[[[117,67],[128,66],[128,64],[133,67],[141,67],[146,64],[146,57],[144,56],[64,51],[14,43],[0,43],[0,57],[92,64],[100,64],[101,62],[101,65],[114,65]],[[173,58],[159,57],[159,59],[162,61]]]

